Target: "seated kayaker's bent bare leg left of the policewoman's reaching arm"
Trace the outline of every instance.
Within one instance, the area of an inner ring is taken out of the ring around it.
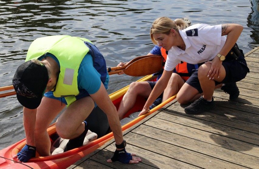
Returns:
[[[151,91],[152,89],[150,87],[150,84],[146,81],[131,83],[128,91],[123,96],[123,99],[119,105],[119,120],[123,119],[123,116],[126,114],[126,112],[133,108],[138,95],[143,96],[144,98],[148,98]]]

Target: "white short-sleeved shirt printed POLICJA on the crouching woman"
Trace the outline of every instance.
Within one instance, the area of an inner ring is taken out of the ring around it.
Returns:
[[[226,37],[221,36],[222,25],[210,26],[195,24],[179,30],[186,45],[185,50],[173,46],[167,55],[164,70],[172,71],[181,61],[198,64],[216,57],[225,44]]]

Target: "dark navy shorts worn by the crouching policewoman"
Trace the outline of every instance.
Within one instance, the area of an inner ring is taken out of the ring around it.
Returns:
[[[240,50],[241,51],[241,50]],[[226,56],[227,58],[228,56]],[[247,67],[246,60],[244,58],[243,52],[242,55],[238,58],[238,60],[227,60],[222,62],[223,67],[226,70],[226,77],[222,82],[215,81],[215,85],[224,83],[234,83],[242,80],[246,77],[249,72],[249,68]],[[193,70],[191,77],[186,81],[187,84],[194,87],[199,91],[199,93],[203,93],[199,79],[198,79],[198,69]]]

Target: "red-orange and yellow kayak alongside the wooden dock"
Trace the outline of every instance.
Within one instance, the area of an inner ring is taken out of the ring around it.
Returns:
[[[146,76],[144,78],[141,78],[138,81],[152,81],[152,76]],[[121,99],[123,98],[123,95],[128,90],[129,86],[126,86],[112,94],[109,95],[111,98],[113,104],[118,109],[119,103]],[[125,131],[126,129],[130,128],[131,126],[135,125],[137,122],[140,122],[142,119],[150,115],[151,113],[157,111],[158,109],[162,108],[167,103],[171,102],[174,98],[176,98],[176,95],[172,96],[171,98],[167,99],[165,102],[162,102],[160,105],[156,106],[154,109],[151,109],[150,112],[148,112],[145,115],[142,115],[140,117],[137,117],[133,119],[132,121],[126,123],[122,126],[122,131]],[[143,105],[145,104],[146,99],[142,97],[138,97],[136,101],[136,105],[127,112],[127,114],[124,117],[128,117],[130,114],[140,111],[143,109]],[[92,114],[92,113],[91,113]],[[107,117],[106,117],[107,118]],[[91,126],[91,124],[89,125]],[[90,129],[93,131],[93,129]],[[53,136],[56,134],[56,127],[55,123],[50,125],[47,129],[47,132],[50,136]],[[95,131],[93,131],[95,132]],[[97,133],[97,132],[95,132]],[[81,158],[85,157],[89,153],[92,153],[94,150],[98,149],[102,145],[104,145],[109,140],[113,139],[113,133],[102,133],[99,132],[99,138],[97,137],[96,140],[85,144],[84,146],[75,148],[73,150],[66,151],[64,153],[59,153],[55,155],[45,156],[45,157],[39,157],[39,155],[36,155],[36,157],[31,158],[27,163],[17,163],[13,161],[12,157],[16,155],[25,145],[26,139],[20,140],[17,143],[12,144],[9,147],[6,147],[2,150],[0,150],[0,168],[5,169],[16,169],[16,168],[33,168],[33,169],[63,169],[67,168],[70,165],[74,164],[76,161],[80,160]],[[103,135],[103,136],[102,136]]]

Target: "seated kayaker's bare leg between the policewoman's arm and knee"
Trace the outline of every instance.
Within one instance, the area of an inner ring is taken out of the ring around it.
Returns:
[[[164,102],[171,96],[175,95],[181,89],[184,83],[185,82],[181,78],[181,76],[179,76],[176,73],[172,73],[172,76],[167,84],[167,87],[164,90],[162,102]]]

